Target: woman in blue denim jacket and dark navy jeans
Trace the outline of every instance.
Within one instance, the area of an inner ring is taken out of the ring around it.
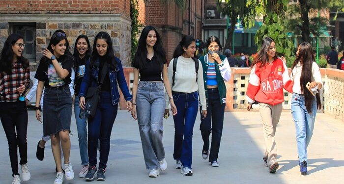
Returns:
[[[103,72],[103,70],[106,70]],[[104,73],[104,81],[100,80]],[[123,67],[115,57],[111,37],[106,32],[99,32],[93,42],[92,56],[86,61],[86,71],[79,91],[79,105],[85,109],[85,96],[88,87],[101,87],[101,94],[94,117],[88,118],[88,160],[86,180],[93,180],[97,172],[98,139],[100,140],[99,166],[96,180],[105,180],[105,169],[110,153],[110,136],[117,115],[119,93],[121,89],[128,110],[132,109],[132,96],[124,78]]]

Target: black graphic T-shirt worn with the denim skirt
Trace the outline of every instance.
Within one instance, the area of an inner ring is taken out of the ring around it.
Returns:
[[[68,76],[64,79],[61,79],[52,63],[49,61],[49,64],[40,62],[36,71],[34,78],[38,79],[39,81],[44,81],[45,87],[58,87],[70,84],[72,81],[70,79],[72,74],[72,62],[73,58],[66,55],[61,55],[57,58],[58,64],[62,66],[63,69],[68,71]]]

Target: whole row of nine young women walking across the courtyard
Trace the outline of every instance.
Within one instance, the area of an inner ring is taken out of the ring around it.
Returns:
[[[108,33],[99,32],[94,37],[92,48],[87,36],[80,35],[75,41],[72,55],[65,32],[57,30],[47,48],[42,49],[43,57],[35,74],[38,82],[34,89],[36,118],[43,122],[43,137],[37,144],[36,156],[43,160],[44,144],[50,138],[57,171],[54,184],[62,184],[63,176],[66,180],[74,178],[69,160],[73,96],[82,160],[79,177],[89,181],[94,178],[100,181],[106,179],[110,136],[119,102],[118,86],[128,111],[138,121],[149,177],[157,177],[160,171],[167,169],[162,121],[163,117],[168,118],[170,115],[169,105],[175,129],[175,168],[181,169],[185,176],[193,174],[192,137],[198,109],[201,113],[200,130],[203,139],[201,156],[208,159],[211,166],[218,167],[227,92],[225,82],[230,79],[231,70],[226,56],[220,54],[222,46],[219,38],[209,37],[206,46],[209,52],[196,59],[196,40],[192,36],[184,36],[168,64],[161,36],[153,26],[144,27],[133,60],[134,83],[131,95],[121,61],[115,57]],[[29,89],[29,61],[22,55],[24,47],[23,37],[11,34],[0,56],[0,118],[9,145],[13,184],[21,183],[17,147],[21,158],[22,180],[30,179],[26,141],[28,112],[25,103],[30,98],[24,98]],[[252,65],[247,109],[250,110],[255,101],[259,102],[266,143],[263,160],[269,166],[270,173],[274,173],[279,166],[274,135],[284,101],[283,87],[293,92],[291,112],[296,127],[299,164],[301,174],[307,173],[306,149],[312,137],[316,108],[321,104],[306,84],[309,81],[310,88],[319,89],[322,82],[310,44],[302,43],[296,54],[289,77],[285,61],[276,56],[274,41],[266,37]],[[83,110],[90,87],[98,87],[100,97],[94,116],[86,122]],[[100,156],[97,167],[98,149]],[[64,158],[64,170],[61,155]]]

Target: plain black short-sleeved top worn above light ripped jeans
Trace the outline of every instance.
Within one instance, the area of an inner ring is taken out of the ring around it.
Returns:
[[[160,57],[153,55],[152,59],[146,58],[144,63],[144,68],[140,69],[141,81],[162,81],[161,73],[163,71],[163,64],[165,62],[159,63]],[[139,69],[139,64],[134,62],[133,67]]]

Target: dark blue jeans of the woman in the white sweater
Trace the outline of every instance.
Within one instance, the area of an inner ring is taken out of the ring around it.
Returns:
[[[174,120],[174,151],[173,158],[180,160],[184,167],[191,169],[192,134],[198,111],[198,92],[172,92],[178,113]]]

